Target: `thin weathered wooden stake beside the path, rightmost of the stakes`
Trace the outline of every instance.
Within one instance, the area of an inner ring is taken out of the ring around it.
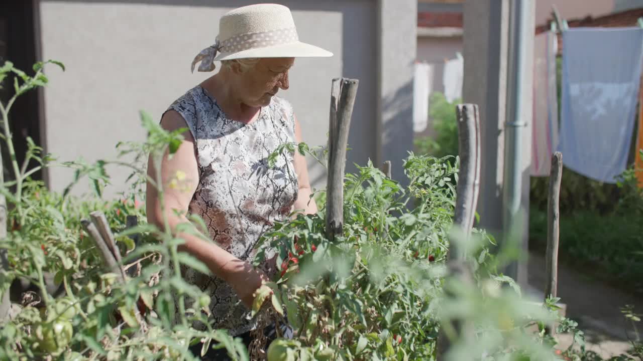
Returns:
[[[556,297],[558,293],[559,200],[562,177],[563,155],[560,152],[556,152],[552,155],[552,170],[549,176],[549,194],[547,198],[547,251],[545,252],[547,283],[545,284],[545,301],[547,301],[547,297]],[[556,333],[552,326],[547,327],[546,331],[548,335]]]

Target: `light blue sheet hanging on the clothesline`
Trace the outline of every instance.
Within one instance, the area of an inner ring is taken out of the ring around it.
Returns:
[[[642,57],[641,28],[563,31],[558,149],[565,166],[606,183],[624,172]]]

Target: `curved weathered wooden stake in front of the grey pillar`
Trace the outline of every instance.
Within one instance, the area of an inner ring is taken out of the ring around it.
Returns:
[[[460,104],[456,108],[458,119],[458,153],[460,154],[460,169],[458,170],[457,196],[453,224],[460,227],[467,238],[473,228],[478,192],[480,189],[480,114],[478,105]],[[464,283],[473,283],[473,272],[464,262],[464,253],[453,243],[449,245],[448,277],[457,277]],[[448,290],[446,297],[452,297]],[[456,335],[473,333],[471,325],[453,320],[451,328]],[[437,342],[436,356],[441,359],[450,345],[444,331],[440,330]]]

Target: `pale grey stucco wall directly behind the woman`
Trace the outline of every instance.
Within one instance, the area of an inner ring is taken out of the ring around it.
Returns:
[[[41,1],[42,57],[64,62],[50,71],[44,92],[48,151],[61,160],[112,158],[117,141],[141,141],[138,110],[159,119],[183,92],[211,74],[190,73],[196,53],[213,43],[221,15],[252,1],[132,0]],[[358,78],[349,164],[376,154],[377,2],[370,0],[276,1],[291,8],[300,39],[334,53],[300,58],[291,101],[309,145],[325,145],[331,79]],[[414,35],[412,37],[414,39]],[[323,167],[309,161],[315,186],[325,184]],[[350,170],[350,167],[347,169]],[[113,169],[108,195],[123,190],[122,168]],[[50,186],[62,189],[71,172],[50,171]],[[86,190],[86,186],[79,191]]]

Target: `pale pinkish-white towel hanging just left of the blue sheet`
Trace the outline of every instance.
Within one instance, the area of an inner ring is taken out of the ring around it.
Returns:
[[[532,121],[531,175],[547,177],[558,142],[556,95],[557,37],[547,31],[534,39],[534,118]]]

